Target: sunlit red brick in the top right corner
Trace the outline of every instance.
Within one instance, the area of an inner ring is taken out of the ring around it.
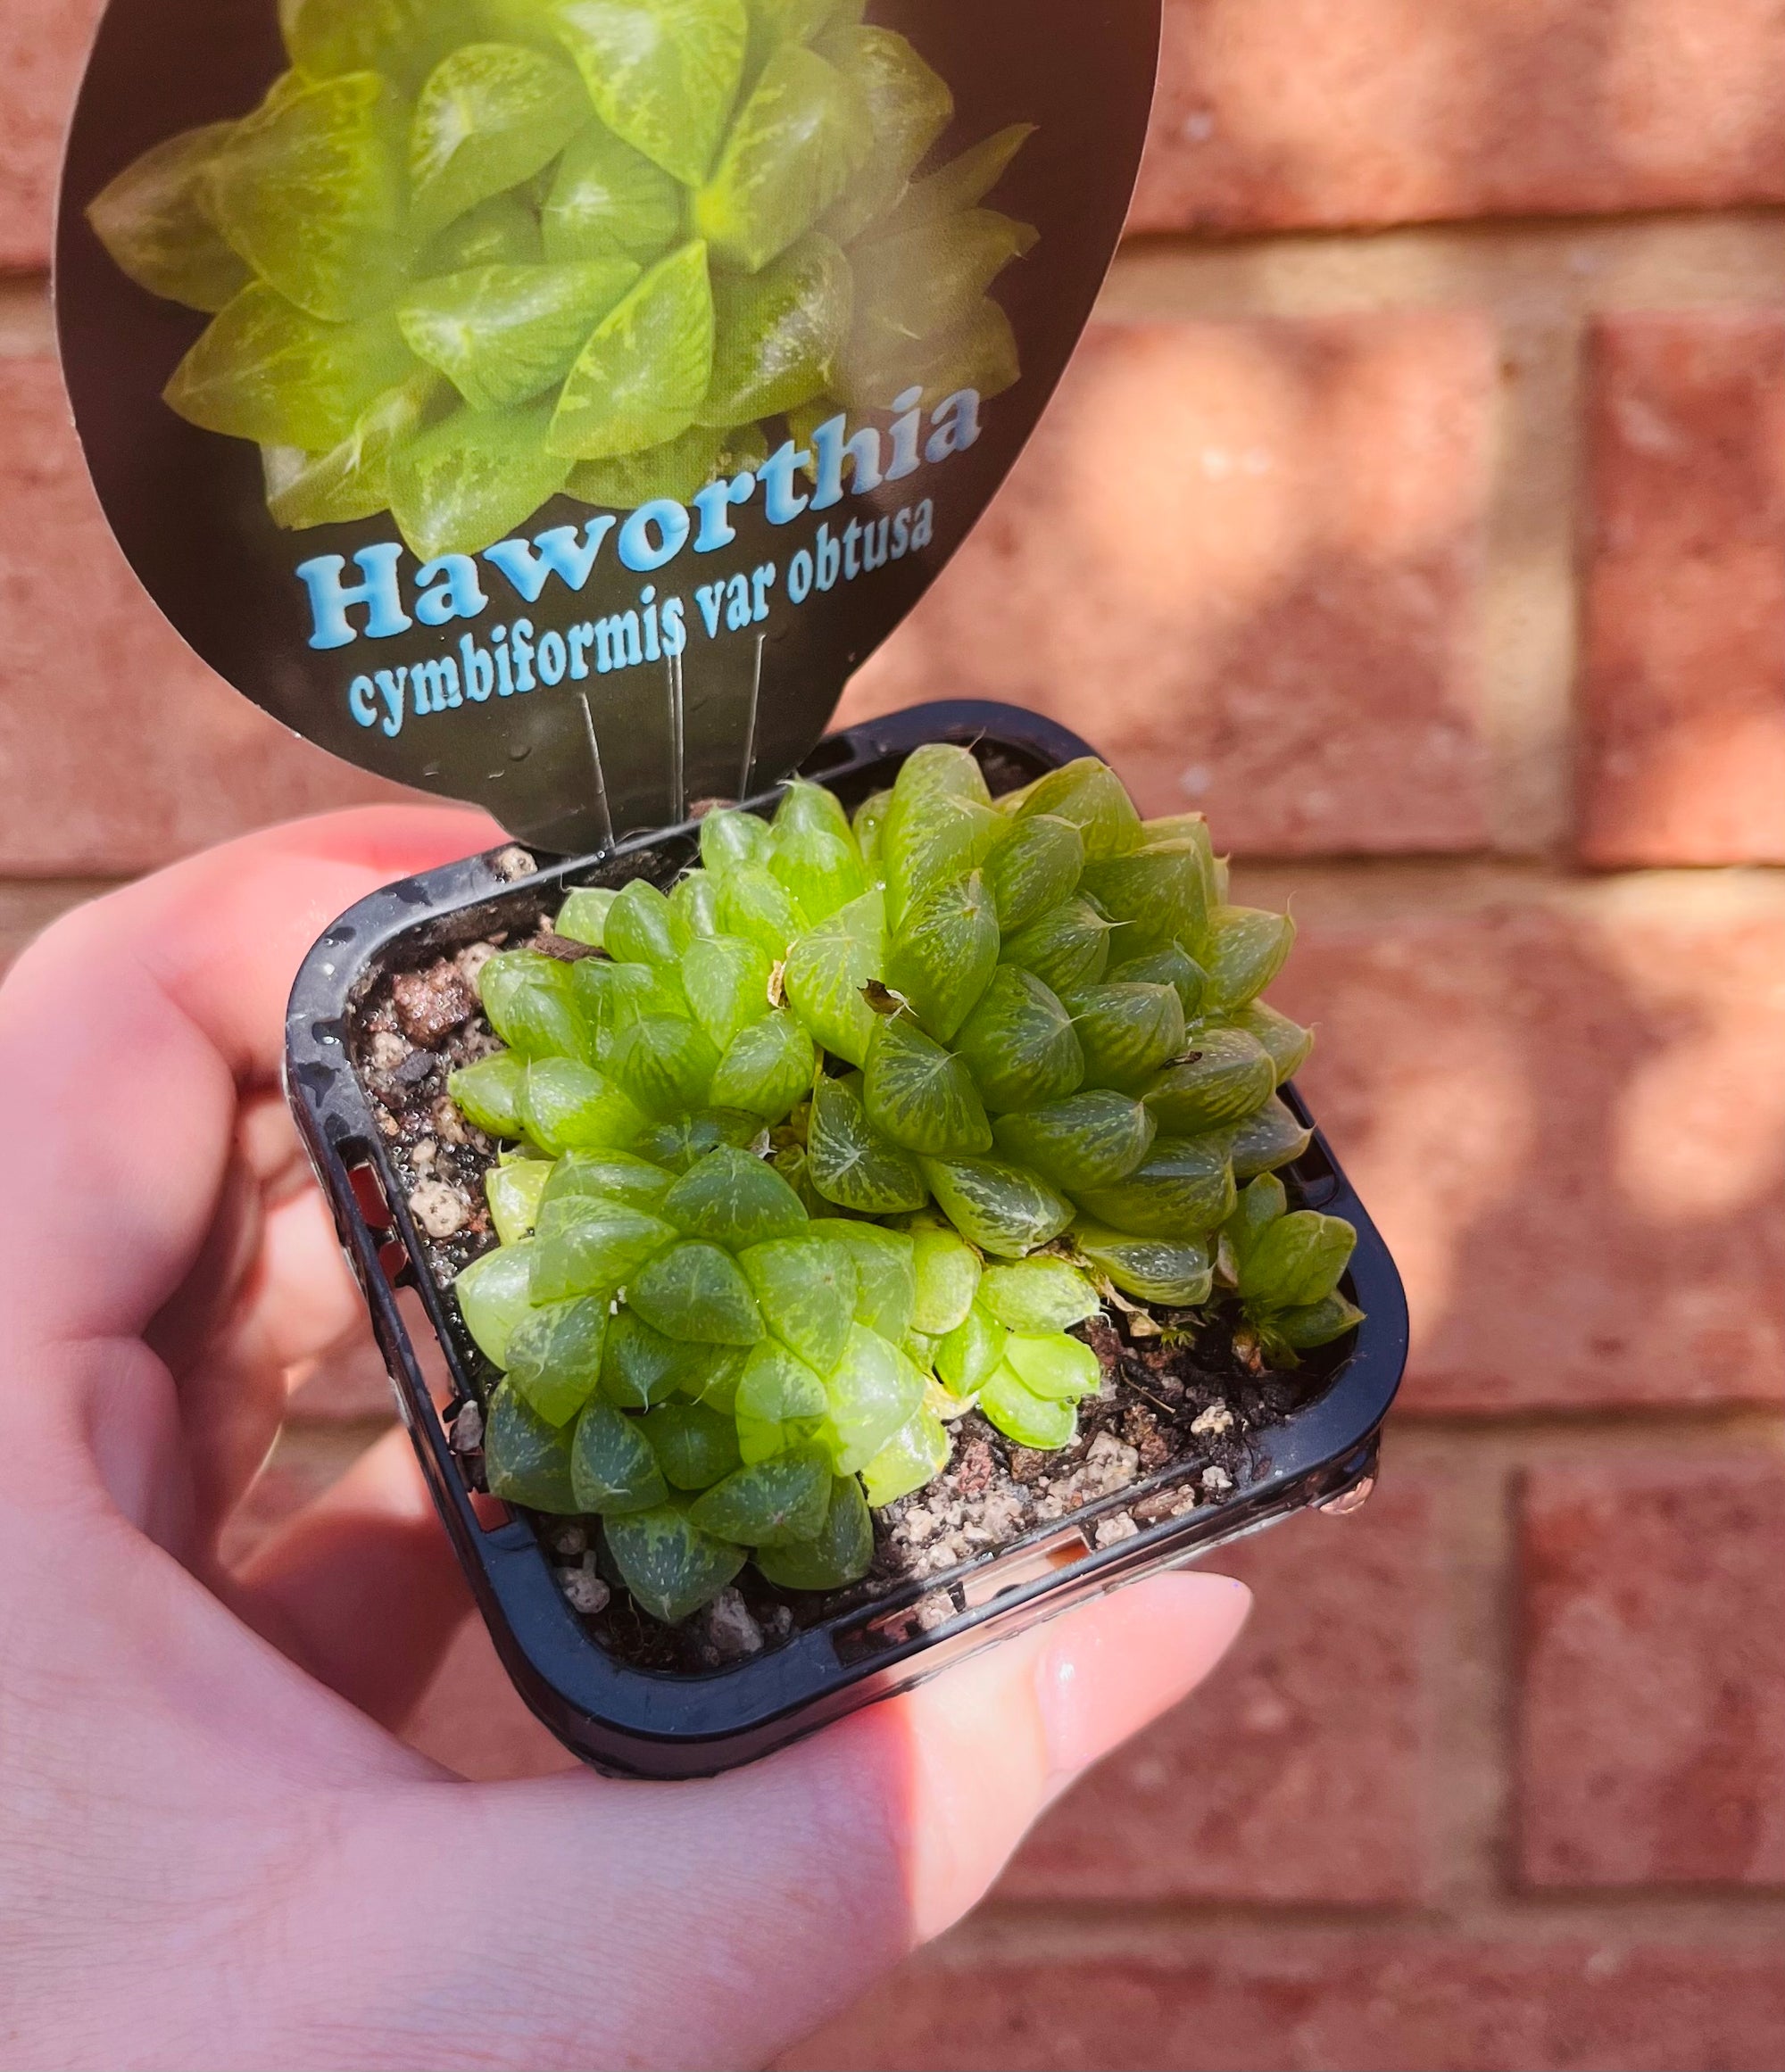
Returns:
[[[1165,0],[1134,228],[1781,199],[1773,0]]]

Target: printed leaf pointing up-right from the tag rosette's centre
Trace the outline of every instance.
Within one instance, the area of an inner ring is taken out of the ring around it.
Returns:
[[[695,228],[719,259],[757,274],[817,224],[871,147],[856,79],[782,44],[695,195]]]

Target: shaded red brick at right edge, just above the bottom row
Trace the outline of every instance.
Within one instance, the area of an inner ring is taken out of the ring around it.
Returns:
[[[1524,1537],[1534,1886],[1785,1886],[1785,1467],[1545,1467]]]

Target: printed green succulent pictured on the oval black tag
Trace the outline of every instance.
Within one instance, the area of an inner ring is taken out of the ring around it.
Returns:
[[[272,12],[274,0],[263,0]],[[918,176],[947,83],[858,0],[282,0],[290,70],[89,220],[211,315],[166,400],[282,526],[421,559],[568,493],[695,493],[838,412],[1018,379],[985,207],[1016,124]]]

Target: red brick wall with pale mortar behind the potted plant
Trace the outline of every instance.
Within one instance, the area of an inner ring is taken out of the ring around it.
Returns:
[[[41,286],[79,12],[0,23],[0,953],[371,789],[100,530]],[[848,711],[1055,711],[1296,895],[1414,1363],[1377,1502],[1234,1552],[1215,1687],[792,2064],[1785,2057],[1781,203],[1777,0],[1167,0],[1103,321]],[[301,1411],[243,1533],[371,1359]],[[417,1734],[554,1761],[475,1633]]]

